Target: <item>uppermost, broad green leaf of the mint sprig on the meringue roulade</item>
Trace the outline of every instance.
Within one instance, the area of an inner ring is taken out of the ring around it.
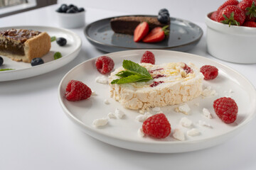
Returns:
[[[128,69],[129,71],[132,72],[137,72],[139,74],[142,74],[147,77],[151,77],[149,72],[146,70],[146,68],[140,66],[139,64],[132,62],[130,60],[124,60],[123,65],[124,69]]]

